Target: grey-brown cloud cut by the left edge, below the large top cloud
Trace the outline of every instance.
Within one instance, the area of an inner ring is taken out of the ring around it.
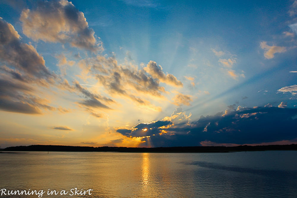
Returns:
[[[20,42],[15,28],[0,17],[0,60],[27,75],[37,78],[52,78],[54,75],[45,66],[45,61],[32,45]]]

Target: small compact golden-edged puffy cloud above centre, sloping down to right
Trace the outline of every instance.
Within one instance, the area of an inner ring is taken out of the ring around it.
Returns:
[[[155,61],[149,61],[146,67],[143,68],[148,72],[153,78],[159,79],[162,83],[166,83],[173,86],[183,86],[181,81],[177,80],[172,74],[166,74],[163,72],[163,68],[157,65]]]

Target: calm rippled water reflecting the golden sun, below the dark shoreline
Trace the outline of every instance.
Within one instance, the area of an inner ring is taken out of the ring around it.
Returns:
[[[0,153],[0,190],[42,197],[297,197],[297,151]],[[75,195],[78,188],[91,195]],[[48,189],[68,191],[47,195]],[[7,192],[6,191],[6,192]],[[38,197],[4,195],[0,197]]]

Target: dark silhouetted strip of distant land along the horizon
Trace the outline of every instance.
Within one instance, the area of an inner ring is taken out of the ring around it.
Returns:
[[[290,145],[257,145],[257,146],[185,146],[185,147],[91,147],[91,146],[63,146],[63,145],[30,145],[13,146],[2,151],[64,151],[64,152],[127,152],[127,153],[211,153],[238,151],[297,151],[297,144]]]

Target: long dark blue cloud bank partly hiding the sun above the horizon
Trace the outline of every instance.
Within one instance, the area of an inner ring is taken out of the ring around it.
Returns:
[[[261,144],[296,139],[296,118],[297,108],[238,108],[228,110],[227,113],[201,116],[189,125],[157,121],[152,122],[155,127],[150,127],[149,123],[140,123],[130,130],[118,129],[117,132],[127,137],[143,137],[140,147],[197,146],[205,141]],[[148,130],[144,133],[145,128]]]

